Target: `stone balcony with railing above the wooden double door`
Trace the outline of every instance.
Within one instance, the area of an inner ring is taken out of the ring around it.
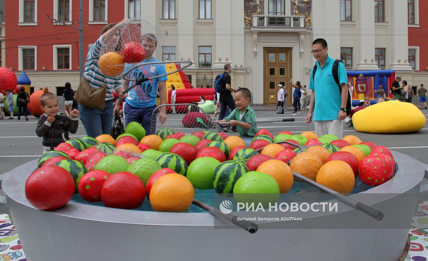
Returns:
[[[253,15],[251,30],[256,31],[306,31],[303,15]]]

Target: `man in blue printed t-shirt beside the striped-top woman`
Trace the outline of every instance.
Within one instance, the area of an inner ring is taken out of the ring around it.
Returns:
[[[143,35],[141,45],[146,50],[146,59],[143,61],[146,62],[158,62],[156,58],[153,57],[155,53],[158,40],[155,35],[147,33]],[[135,68],[129,75],[129,78],[134,79],[134,81],[124,81],[123,85],[128,88],[130,85],[134,85],[135,79],[150,78],[153,76],[165,74],[166,69],[163,64],[151,64],[151,65],[141,65],[140,67]],[[156,96],[159,90],[160,104],[166,104],[166,80],[167,76],[162,76],[159,78],[150,79],[146,82],[141,83],[140,85],[135,86],[128,92],[128,97],[125,99],[126,105],[124,108],[125,113],[125,124],[132,121],[140,123],[146,130],[146,135],[151,135],[150,125],[152,122],[152,113],[156,109]],[[120,111],[120,100],[116,102],[115,112]],[[159,111],[159,121],[161,124],[166,121],[166,107],[163,106]],[[154,132],[155,130],[153,130]]]

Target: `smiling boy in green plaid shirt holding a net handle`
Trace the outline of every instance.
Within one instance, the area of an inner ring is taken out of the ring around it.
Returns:
[[[258,132],[256,126],[256,113],[249,106],[251,101],[251,91],[247,88],[239,88],[235,95],[236,109],[225,117],[223,120],[217,122],[227,122],[227,126],[237,126],[240,136],[253,137]]]

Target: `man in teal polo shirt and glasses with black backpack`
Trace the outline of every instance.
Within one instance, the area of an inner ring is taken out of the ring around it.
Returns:
[[[339,139],[343,136],[342,120],[346,117],[346,102],[348,99],[348,78],[345,66],[339,63],[339,83],[342,94],[333,78],[332,67],[334,59],[327,54],[327,41],[318,38],[312,43],[312,54],[317,60],[317,70],[312,79],[312,70],[309,77],[309,89],[312,90],[309,113],[306,122],[313,120],[315,133],[318,137],[324,134],[334,134]],[[315,99],[316,98],[316,99]],[[315,103],[315,106],[314,106]]]

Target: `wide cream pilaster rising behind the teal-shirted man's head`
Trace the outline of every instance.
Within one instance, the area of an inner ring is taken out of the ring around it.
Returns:
[[[340,58],[340,9],[339,0],[312,1],[312,41],[324,38],[328,54],[333,59]],[[315,59],[312,57],[315,64]]]

